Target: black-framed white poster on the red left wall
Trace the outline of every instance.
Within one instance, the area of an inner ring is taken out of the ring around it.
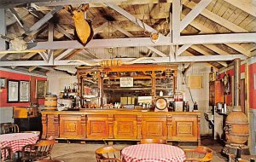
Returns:
[[[19,81],[8,80],[7,102],[18,102],[18,101],[19,101]]]

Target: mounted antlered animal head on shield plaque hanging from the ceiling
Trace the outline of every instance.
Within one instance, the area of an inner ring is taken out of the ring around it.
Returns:
[[[93,37],[93,31],[89,20],[85,20],[84,13],[89,9],[89,4],[82,4],[78,8],[72,6],[65,7],[72,14],[75,36],[79,38],[79,42],[84,46],[90,42]]]

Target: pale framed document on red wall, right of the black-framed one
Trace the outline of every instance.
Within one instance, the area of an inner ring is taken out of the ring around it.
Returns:
[[[30,84],[29,81],[20,80],[20,101],[29,101]]]

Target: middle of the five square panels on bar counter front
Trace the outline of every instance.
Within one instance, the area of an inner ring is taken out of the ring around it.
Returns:
[[[113,137],[118,139],[137,139],[137,116],[115,115]]]

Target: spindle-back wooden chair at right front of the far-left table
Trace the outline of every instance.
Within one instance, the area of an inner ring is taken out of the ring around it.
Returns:
[[[51,159],[51,150],[55,144],[55,139],[41,140],[36,144],[29,144],[22,148],[21,161],[35,161],[41,159]]]

